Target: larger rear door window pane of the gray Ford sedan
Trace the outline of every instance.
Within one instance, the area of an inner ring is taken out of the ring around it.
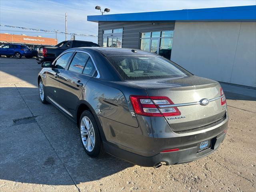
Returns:
[[[68,70],[77,72],[77,73],[82,73],[84,66],[89,57],[90,56],[86,53],[77,52],[70,64]]]

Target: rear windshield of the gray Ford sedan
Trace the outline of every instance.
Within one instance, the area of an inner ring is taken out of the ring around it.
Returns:
[[[107,56],[125,80],[178,78],[191,74],[160,56]]]

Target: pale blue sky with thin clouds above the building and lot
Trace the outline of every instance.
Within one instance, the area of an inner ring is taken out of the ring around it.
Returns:
[[[182,10],[255,5],[256,0],[0,0],[0,24],[59,30],[65,32],[67,12],[68,32],[98,34],[98,23],[88,22],[88,15],[100,15],[95,6],[109,8],[105,14]],[[32,32],[18,28],[0,27],[0,33],[26,34],[55,38],[55,33]],[[65,40],[57,34],[58,42]],[[70,35],[68,35],[70,39]],[[76,36],[76,40],[97,42],[97,38]]]

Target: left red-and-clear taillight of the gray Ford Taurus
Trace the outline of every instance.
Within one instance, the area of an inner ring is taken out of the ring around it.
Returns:
[[[167,106],[174,104],[168,97],[131,95],[130,101],[134,112],[138,115],[154,117],[180,115],[177,107]]]

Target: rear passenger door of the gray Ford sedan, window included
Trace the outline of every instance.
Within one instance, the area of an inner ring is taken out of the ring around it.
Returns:
[[[76,51],[70,65],[61,72],[61,105],[71,116],[74,116],[84,86],[95,71],[95,64],[91,56],[87,52]]]

